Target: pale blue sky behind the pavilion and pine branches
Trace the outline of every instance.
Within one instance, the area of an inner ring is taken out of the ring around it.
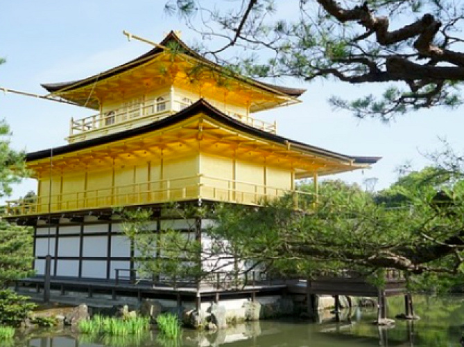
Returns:
[[[145,53],[151,46],[128,42],[122,30],[160,40],[170,30],[182,30],[187,42],[201,39],[176,17],[163,12],[165,0],[4,1],[1,5],[0,87],[46,94],[45,82],[85,78]],[[228,2],[229,4],[230,2]],[[206,42],[208,44],[208,42]],[[213,43],[212,43],[213,44]],[[334,112],[327,103],[332,95],[361,96],[381,86],[351,86],[341,82],[270,80],[289,87],[304,87],[303,103],[255,116],[277,120],[277,132],[304,143],[344,154],[383,157],[370,170],[337,175],[362,184],[377,177],[375,188],[389,186],[397,178],[395,168],[406,161],[420,169],[427,164],[423,153],[440,148],[446,138],[456,150],[464,147],[463,108],[428,109],[399,116],[385,125],[359,121],[348,112]],[[65,145],[69,119],[94,114],[92,110],[0,92],[0,118],[10,124],[12,147],[28,152]],[[35,189],[32,180],[16,187],[17,198]]]

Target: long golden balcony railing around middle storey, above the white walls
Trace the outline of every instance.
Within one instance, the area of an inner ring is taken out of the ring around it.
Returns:
[[[314,195],[298,190],[286,190],[207,175],[195,175],[76,193],[63,193],[51,195],[51,197],[40,196],[33,199],[8,200],[6,202],[6,215],[43,215],[191,199],[259,205],[266,200],[284,196],[292,199],[295,209],[305,210],[316,202]]]

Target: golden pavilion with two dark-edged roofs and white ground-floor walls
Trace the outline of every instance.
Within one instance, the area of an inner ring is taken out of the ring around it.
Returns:
[[[114,69],[44,87],[96,112],[71,118],[67,145],[27,155],[37,199],[9,202],[9,220],[35,227],[37,274],[44,274],[50,252],[55,281],[107,281],[117,269],[133,268],[134,251],[121,235],[115,207],[158,211],[172,201],[256,205],[302,194],[295,179],[317,182],[320,175],[378,160],[278,136],[275,123],[252,114],[298,103],[303,90],[235,75],[191,51],[174,33]],[[157,215],[153,229],[185,230],[185,223]],[[196,221],[192,237],[201,238],[206,223]]]

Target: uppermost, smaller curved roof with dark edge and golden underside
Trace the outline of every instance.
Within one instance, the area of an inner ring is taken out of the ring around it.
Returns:
[[[166,57],[168,57],[168,59],[163,60]],[[306,91],[306,89],[282,87],[275,84],[259,82],[251,78],[246,78],[243,75],[233,73],[229,69],[224,69],[223,66],[205,59],[205,57],[199,55],[194,50],[189,48],[189,46],[182,42],[182,40],[177,35],[175,35],[173,31],[171,31],[171,33],[169,33],[162,40],[162,42],[160,42],[160,44],[151,49],[151,51],[148,51],[144,55],[140,55],[130,62],[126,62],[125,64],[116,66],[113,69],[103,71],[97,75],[83,78],[82,80],[60,83],[46,83],[42,84],[42,87],[44,87],[51,94],[61,96],[62,98],[70,100],[78,105],[98,109],[98,104],[100,103],[103,94],[105,92],[108,93],[108,85],[103,87],[105,82],[108,82],[113,78],[111,86],[112,88],[116,89],[118,83],[121,84],[121,82],[114,80],[115,77],[121,76],[124,73],[129,73],[130,71],[133,72],[136,69],[146,68],[146,73],[139,73],[137,77],[134,77],[134,75],[131,75],[130,77],[132,79],[138,79],[142,82],[145,82],[148,80],[148,78],[150,78],[151,75],[155,73],[160,74],[159,71],[157,71],[157,69],[159,69],[158,66],[153,68],[156,62],[169,61],[172,63],[173,60],[175,60],[176,64],[185,65],[185,62],[189,63],[185,66],[187,66],[189,69],[187,77],[191,81],[205,78],[205,73],[202,73],[202,77],[198,77],[198,66],[201,66],[203,72],[208,70],[211,75],[225,76],[226,78],[232,80],[233,84],[240,85],[242,89],[245,87],[246,89],[252,89],[256,91],[257,93],[255,93],[253,96],[254,99],[258,98],[258,93],[270,94],[274,96],[274,102],[270,102],[266,99],[265,101],[267,104],[265,105],[265,103],[261,101],[261,109],[298,102],[296,98],[301,96],[304,91]],[[185,66],[184,69],[186,69]],[[152,69],[148,69],[149,67],[152,67]],[[176,67],[175,69],[178,68]],[[192,72],[193,70],[196,70],[196,72]],[[173,70],[171,69],[171,78],[173,78],[172,71]],[[166,71],[164,71],[164,73],[165,72]],[[175,72],[177,73],[178,71],[176,70]],[[183,75],[185,75],[185,72],[183,72]],[[220,78],[221,77],[219,77],[219,79]],[[100,86],[102,86],[101,89],[99,89]],[[257,105],[251,105],[250,107],[252,112],[259,109],[260,108]]]

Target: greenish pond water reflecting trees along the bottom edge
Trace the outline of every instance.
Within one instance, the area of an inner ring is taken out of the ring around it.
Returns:
[[[209,333],[184,330],[182,341],[163,339],[156,332],[139,337],[92,337],[63,330],[36,330],[19,335],[14,342],[0,346],[34,347],[99,347],[99,346],[409,346],[461,347],[464,332],[464,296],[414,296],[418,321],[395,319],[395,326],[382,328],[372,324],[376,310],[345,310],[341,321],[325,312],[316,321],[276,319],[238,324],[225,330]],[[402,298],[388,299],[388,315],[404,312]]]

